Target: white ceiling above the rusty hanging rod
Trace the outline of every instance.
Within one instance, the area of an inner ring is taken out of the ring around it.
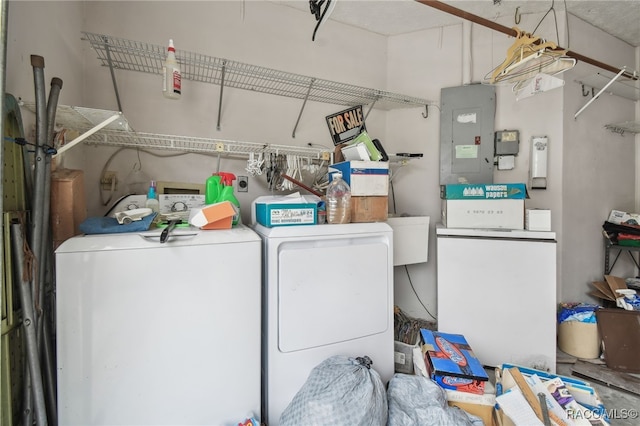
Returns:
[[[311,15],[307,0],[274,2],[305,10]],[[332,0],[332,3],[333,10],[329,19],[382,35],[410,33],[454,25],[462,21],[461,18],[414,0]],[[569,14],[634,47],[640,46],[640,0],[454,0],[442,3],[491,21],[504,16],[515,18],[516,9],[525,15],[544,14],[551,7],[556,13],[562,13],[566,7]],[[324,4],[322,8],[324,9]],[[311,19],[314,19],[313,16]],[[549,13],[546,19],[553,19],[553,12]],[[515,26],[515,23],[509,26]],[[533,31],[534,28],[523,29]],[[321,32],[319,28],[318,35]]]

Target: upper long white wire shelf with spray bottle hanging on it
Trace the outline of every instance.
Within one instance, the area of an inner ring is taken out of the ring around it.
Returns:
[[[84,31],[83,34],[103,66],[151,74],[162,73],[166,55],[164,46]],[[417,97],[292,74],[184,50],[176,49],[176,59],[180,64],[183,79],[289,98],[345,106],[374,103],[374,108],[383,110],[433,103]]]

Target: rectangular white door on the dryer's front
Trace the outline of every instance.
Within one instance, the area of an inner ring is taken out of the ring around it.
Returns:
[[[278,348],[293,352],[392,327],[387,235],[283,242],[278,249]]]

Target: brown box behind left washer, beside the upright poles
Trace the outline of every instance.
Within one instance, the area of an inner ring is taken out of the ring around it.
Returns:
[[[51,172],[51,228],[54,247],[81,234],[87,218],[82,170],[57,169]]]

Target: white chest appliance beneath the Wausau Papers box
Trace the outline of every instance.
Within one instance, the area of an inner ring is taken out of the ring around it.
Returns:
[[[484,365],[555,372],[554,232],[438,226],[438,330],[462,334]]]

